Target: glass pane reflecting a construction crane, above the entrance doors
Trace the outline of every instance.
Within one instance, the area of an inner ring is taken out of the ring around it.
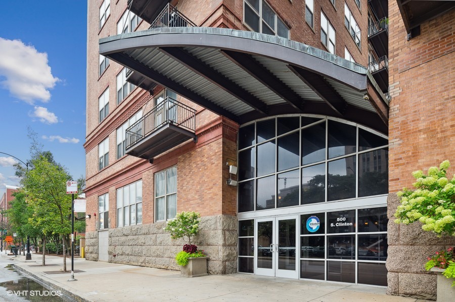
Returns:
[[[297,206],[299,204],[299,170],[278,174],[278,207]]]

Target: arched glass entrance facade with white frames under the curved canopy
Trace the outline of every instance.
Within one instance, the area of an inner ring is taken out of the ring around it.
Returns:
[[[240,128],[238,163],[239,272],[262,274],[266,262],[278,276],[282,264],[272,264],[286,252],[299,278],[387,285],[386,136],[331,117],[277,116]],[[285,228],[266,230],[290,214],[299,238],[281,243],[272,235]]]

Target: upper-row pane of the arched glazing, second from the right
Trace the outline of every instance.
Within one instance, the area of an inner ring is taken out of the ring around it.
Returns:
[[[354,153],[355,145],[354,126],[329,120],[329,158]]]

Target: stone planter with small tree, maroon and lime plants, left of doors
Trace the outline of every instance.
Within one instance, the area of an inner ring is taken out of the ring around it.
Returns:
[[[188,244],[178,252],[175,262],[181,266],[180,274],[186,277],[207,275],[207,255],[204,251],[191,243],[191,239],[199,232],[199,218],[197,212],[177,213],[174,219],[168,220],[164,230],[170,232],[172,239],[186,238]]]

